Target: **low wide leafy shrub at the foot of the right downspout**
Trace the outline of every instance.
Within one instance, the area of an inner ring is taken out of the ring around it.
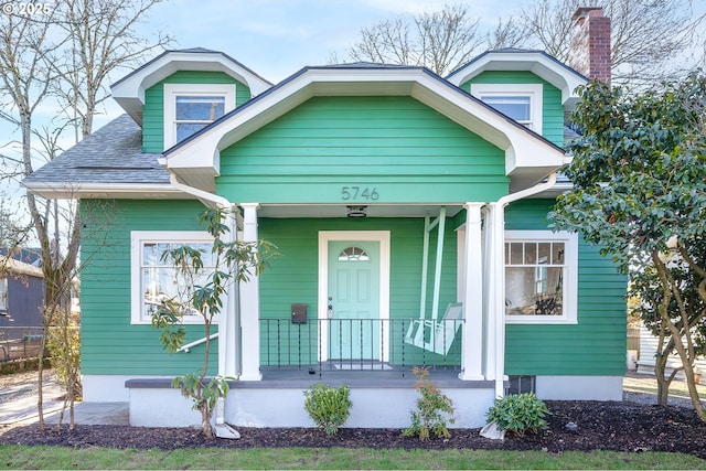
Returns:
[[[488,410],[488,424],[494,421],[501,430],[524,437],[526,431],[536,433],[547,429],[544,417],[549,414],[546,404],[534,393],[511,394],[495,399]]]

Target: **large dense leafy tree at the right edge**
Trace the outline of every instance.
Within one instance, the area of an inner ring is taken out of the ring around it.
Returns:
[[[694,408],[697,353],[687,289],[706,301],[706,77],[693,74],[638,95],[591,83],[573,119],[581,128],[566,169],[573,190],[557,199],[555,229],[580,231],[620,268],[654,270],[655,313],[684,366]],[[680,266],[691,277],[675,277]]]

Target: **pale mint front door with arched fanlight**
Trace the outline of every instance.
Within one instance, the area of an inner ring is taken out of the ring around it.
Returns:
[[[329,357],[379,356],[378,240],[330,240],[328,279]]]

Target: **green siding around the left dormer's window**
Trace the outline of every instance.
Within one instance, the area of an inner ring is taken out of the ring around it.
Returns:
[[[175,72],[145,90],[142,152],[164,150],[164,84],[235,84],[236,107],[250,99],[250,88],[223,72]]]

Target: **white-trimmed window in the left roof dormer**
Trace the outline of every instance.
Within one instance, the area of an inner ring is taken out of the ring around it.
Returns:
[[[234,84],[164,84],[164,149],[233,109]]]

